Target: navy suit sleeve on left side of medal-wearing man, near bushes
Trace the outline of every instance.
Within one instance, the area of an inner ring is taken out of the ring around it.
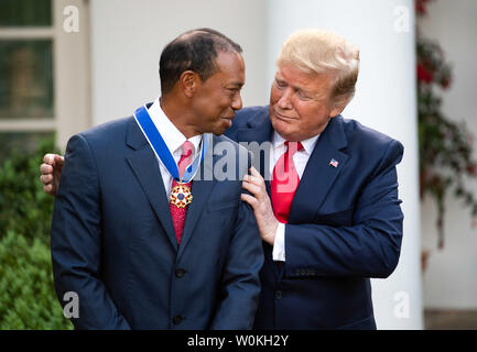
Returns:
[[[100,279],[101,208],[96,163],[82,134],[67,145],[52,222],[51,249],[55,289],[78,295],[76,329],[130,329]]]

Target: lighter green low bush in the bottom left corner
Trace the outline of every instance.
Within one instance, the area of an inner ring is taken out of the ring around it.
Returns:
[[[9,231],[0,240],[0,329],[72,329],[53,287],[50,248]]]

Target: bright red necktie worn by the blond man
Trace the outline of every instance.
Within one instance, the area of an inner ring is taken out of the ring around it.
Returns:
[[[286,151],[273,168],[270,183],[272,207],[275,218],[283,223],[289,221],[290,207],[299,187],[300,177],[293,163],[293,154],[303,150],[301,142],[285,142]]]

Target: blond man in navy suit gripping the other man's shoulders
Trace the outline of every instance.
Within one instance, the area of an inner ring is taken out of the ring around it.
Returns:
[[[376,329],[370,277],[389,276],[399,261],[403,147],[340,116],[358,77],[353,44],[300,31],[277,64],[270,106],[240,110],[226,131],[250,143],[259,169],[242,195],[265,254],[254,328]],[[46,155],[41,167],[50,194],[61,164]]]

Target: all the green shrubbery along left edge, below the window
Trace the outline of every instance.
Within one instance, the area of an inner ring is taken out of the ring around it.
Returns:
[[[53,140],[0,165],[0,329],[72,329],[53,286],[50,230],[53,197],[39,166]]]

